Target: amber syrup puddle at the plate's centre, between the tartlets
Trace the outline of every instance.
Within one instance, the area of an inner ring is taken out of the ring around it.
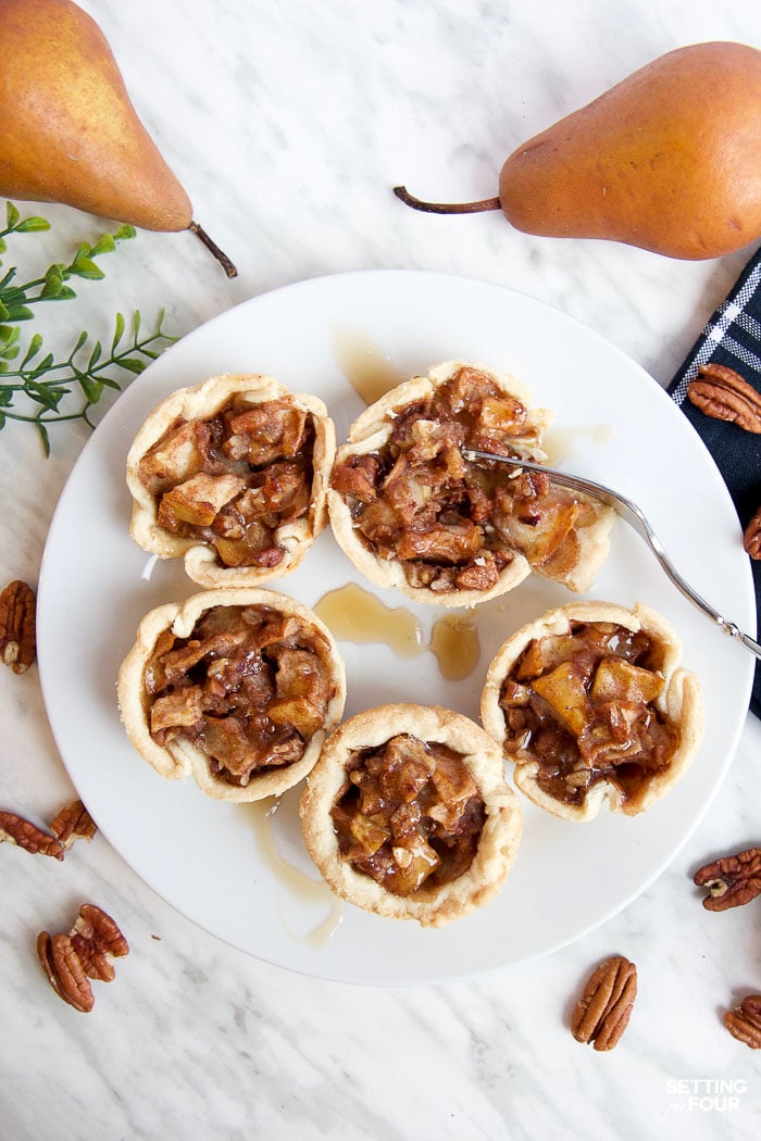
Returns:
[[[386,606],[357,583],[323,594],[314,612],[342,641],[384,642],[399,657],[416,657],[426,650],[422,628],[410,610]]]

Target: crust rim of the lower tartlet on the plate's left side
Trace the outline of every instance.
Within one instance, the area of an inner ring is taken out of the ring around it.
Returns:
[[[212,770],[209,756],[191,739],[178,737],[157,743],[151,733],[151,697],[145,685],[146,666],[157,639],[171,631],[177,638],[188,638],[202,615],[214,607],[266,607],[294,616],[308,632],[315,632],[324,647],[329,701],[324,719],[306,741],[299,760],[277,768],[254,771],[245,785],[232,784]],[[301,602],[273,590],[257,588],[221,589],[193,594],[183,602],[168,602],[145,615],[135,645],[121,664],[118,678],[119,709],[127,735],[160,776],[185,779],[192,776],[202,792],[216,800],[254,801],[278,795],[298,784],[315,764],[323,742],[341,720],[346,702],[346,672],[335,642],[327,628]]]

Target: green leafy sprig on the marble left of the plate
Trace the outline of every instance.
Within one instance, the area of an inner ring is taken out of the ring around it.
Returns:
[[[0,229],[0,253],[7,251],[6,238],[11,234],[29,234],[49,229],[44,218],[22,218],[17,208],[6,204],[6,227]],[[82,420],[95,424],[90,410],[98,404],[105,389],[120,390],[124,374],[135,375],[159,356],[159,349],[177,338],[163,330],[164,311],[147,334],[141,334],[140,314],[135,311],[131,333],[126,337],[127,321],[116,314],[108,350],[92,341],[87,332],[80,333],[66,356],[55,356],[43,349],[43,338],[35,332],[22,357],[21,324],[34,318],[32,307],[43,301],[67,301],[76,297],[68,284],[74,277],[98,281],[105,276],[96,259],[111,253],[116,243],[135,237],[133,226],[120,226],[113,234],[104,234],[95,245],[82,244],[68,264],[52,262],[41,277],[23,285],[14,284],[14,266],[0,277],[0,430],[9,420],[34,424],[46,455],[50,454],[49,428],[51,424]],[[2,261],[0,261],[0,266]],[[21,363],[15,364],[21,357]],[[116,375],[114,375],[114,372]],[[66,397],[72,400],[66,400]],[[74,398],[78,397],[78,400]],[[71,404],[74,407],[71,408]]]

